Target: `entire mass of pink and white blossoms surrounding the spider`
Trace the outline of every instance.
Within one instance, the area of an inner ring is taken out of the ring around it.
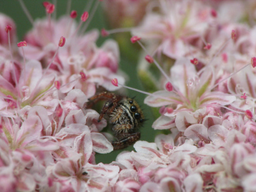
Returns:
[[[96,164],[113,146],[88,99],[124,83],[117,43],[85,33],[100,2],[78,24],[76,11],[53,19],[44,2],[47,18],[29,16],[18,44],[0,14],[1,191],[256,191],[255,2],[104,1],[112,27],[134,25],[153,90],[144,103],[159,108],[152,126],[165,134]]]

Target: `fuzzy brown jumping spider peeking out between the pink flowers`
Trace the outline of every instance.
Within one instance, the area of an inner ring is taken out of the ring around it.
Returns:
[[[138,141],[140,138],[138,127],[144,121],[138,103],[134,99],[106,91],[89,98],[93,103],[99,100],[107,100],[98,121],[105,115],[113,125],[112,130],[117,138],[117,141],[112,141],[114,150],[120,150]]]

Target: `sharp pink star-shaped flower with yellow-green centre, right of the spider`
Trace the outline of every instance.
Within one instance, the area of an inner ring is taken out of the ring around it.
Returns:
[[[236,97],[232,95],[209,89],[215,82],[210,68],[202,73],[197,73],[195,66],[191,65],[189,60],[179,59],[175,62],[170,73],[170,80],[173,82],[174,88],[177,88],[177,91],[158,91],[154,93],[154,96],[148,96],[144,101],[150,106],[169,105],[174,109],[173,114],[164,114],[164,116],[170,117],[169,123],[168,118],[161,116],[161,120],[155,121],[153,124],[155,129],[171,128],[171,122],[173,122],[174,117],[177,118],[182,111],[188,111],[193,114],[205,107],[206,109],[213,108],[214,111],[218,111],[220,105],[227,105],[236,100]],[[166,123],[168,125],[163,126]]]

